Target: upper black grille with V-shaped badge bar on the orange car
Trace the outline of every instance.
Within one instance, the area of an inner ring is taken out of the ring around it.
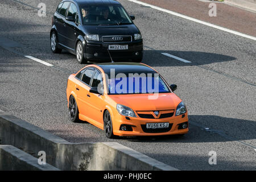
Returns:
[[[140,118],[162,119],[172,117],[174,110],[160,110],[158,115],[156,115],[154,111],[137,111],[137,114]]]

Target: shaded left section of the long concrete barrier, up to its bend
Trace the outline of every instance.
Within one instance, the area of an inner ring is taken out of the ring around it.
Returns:
[[[56,167],[59,143],[68,142],[0,110],[0,144],[15,146],[35,157],[45,151],[47,163]]]

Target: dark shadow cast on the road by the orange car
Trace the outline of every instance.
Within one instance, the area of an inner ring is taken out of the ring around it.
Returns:
[[[183,136],[118,137],[131,142],[204,143],[256,139],[256,122],[216,115],[189,115],[189,132]]]

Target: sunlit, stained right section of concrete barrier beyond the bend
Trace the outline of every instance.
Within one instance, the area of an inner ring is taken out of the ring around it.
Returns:
[[[116,142],[63,143],[57,157],[57,166],[63,170],[177,170]]]

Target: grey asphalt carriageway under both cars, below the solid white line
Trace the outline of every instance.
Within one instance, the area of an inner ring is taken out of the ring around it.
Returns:
[[[36,10],[41,2],[47,8],[42,17]],[[69,142],[118,142],[181,170],[255,170],[255,40],[134,2],[119,2],[136,16],[145,46],[143,63],[169,84],[177,84],[175,93],[189,112],[187,135],[107,139],[89,123],[68,121],[67,78],[85,65],[65,51],[51,52],[51,17],[59,1],[1,0],[0,109]],[[216,165],[208,163],[210,151],[217,153]]]

